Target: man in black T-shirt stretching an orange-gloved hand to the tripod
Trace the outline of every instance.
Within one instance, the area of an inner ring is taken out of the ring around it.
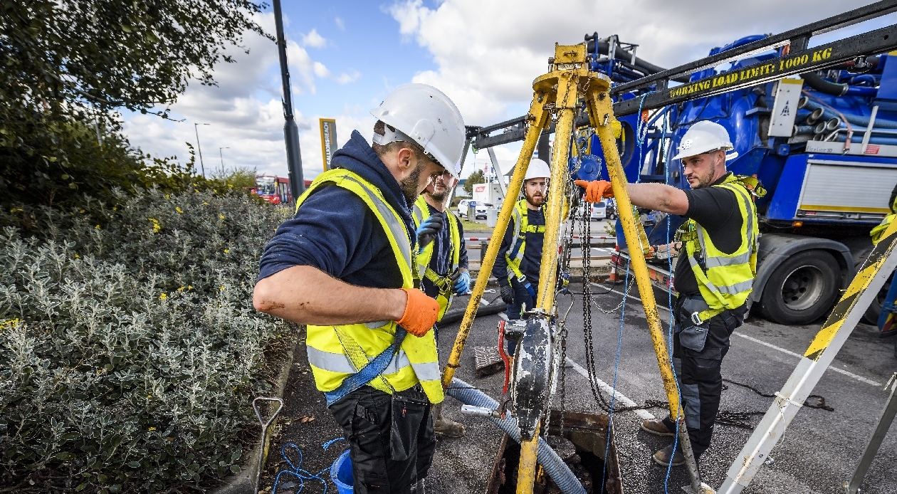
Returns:
[[[726,160],[736,157],[726,128],[710,121],[691,126],[674,160],[682,161],[691,190],[664,184],[628,184],[633,205],[684,216],[676,231],[683,242],[675,266],[673,360],[684,404],[685,426],[694,455],[710,447],[722,392],[720,364],[729,336],[744,322],[757,265],[757,211],[754,197],[765,191],[756,178],[727,172]],[[613,196],[609,182],[578,180],[586,200]],[[645,420],[641,429],[658,436],[675,436],[675,422]],[[666,466],[684,464],[673,445],[661,449],[654,461]]]

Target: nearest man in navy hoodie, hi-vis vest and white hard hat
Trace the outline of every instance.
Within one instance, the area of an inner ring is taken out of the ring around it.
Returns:
[[[412,205],[434,177],[457,175],[464,120],[426,84],[397,88],[370,113],[373,144],[353,132],[266,245],[253,304],[307,325],[354,492],[422,494],[436,446],[431,405],[444,395],[431,331],[440,306],[414,288],[415,257],[440,225],[415,229]]]

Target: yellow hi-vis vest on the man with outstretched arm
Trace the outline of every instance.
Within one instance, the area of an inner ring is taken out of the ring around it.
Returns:
[[[717,185],[735,193],[738,212],[741,213],[741,245],[732,254],[726,254],[713,245],[710,235],[694,220],[687,221],[682,240],[692,272],[698,281],[698,290],[709,309],[698,317],[706,321],[723,310],[736,309],[747,301],[757,276],[757,208],[752,195],[766,194],[756,178],[730,175]],[[695,255],[701,256],[699,262]]]

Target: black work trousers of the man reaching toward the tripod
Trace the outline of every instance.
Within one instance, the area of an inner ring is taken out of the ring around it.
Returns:
[[[698,295],[700,297],[700,295]],[[684,297],[676,303],[675,334],[673,335],[673,364],[682,394],[685,427],[692,439],[695,458],[710,447],[713,425],[717,420],[719,398],[722,394],[723,377],[720,366],[729,349],[729,336],[744,322],[746,306],[736,310],[726,310],[703,325],[707,339],[701,351],[687,348],[680,342],[683,329],[692,326],[691,314],[682,308]],[[692,344],[692,347],[695,346]],[[666,427],[675,430],[675,423],[669,417],[664,419]]]

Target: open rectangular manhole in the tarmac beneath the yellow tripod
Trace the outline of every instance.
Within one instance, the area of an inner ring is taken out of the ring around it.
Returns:
[[[607,444],[608,423],[607,415],[603,414],[560,411],[551,414],[548,443],[588,494],[623,494],[613,429],[610,445]],[[519,462],[520,445],[505,434],[492,465],[486,494],[515,494]],[[533,492],[559,494],[561,490],[540,467]]]

